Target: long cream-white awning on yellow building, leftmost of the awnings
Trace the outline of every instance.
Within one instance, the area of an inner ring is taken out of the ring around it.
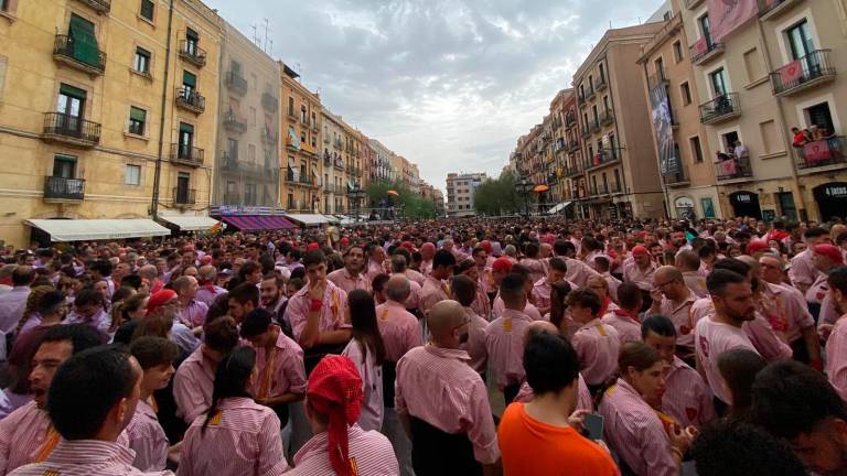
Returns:
[[[51,241],[83,241],[168,236],[171,230],[151,219],[30,219],[24,224],[50,235]]]

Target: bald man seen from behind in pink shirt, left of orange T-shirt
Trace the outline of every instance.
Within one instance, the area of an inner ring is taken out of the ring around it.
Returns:
[[[500,470],[500,448],[482,377],[459,346],[468,342],[462,305],[444,300],[427,315],[430,343],[397,363],[395,409],[411,440],[415,473]]]

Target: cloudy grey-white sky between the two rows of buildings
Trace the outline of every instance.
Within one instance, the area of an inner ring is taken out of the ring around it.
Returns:
[[[497,175],[517,138],[611,24],[662,0],[204,0],[324,106],[444,190],[448,172]],[[261,34],[261,33],[260,33]]]

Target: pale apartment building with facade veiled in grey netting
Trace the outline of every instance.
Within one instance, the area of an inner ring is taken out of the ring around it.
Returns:
[[[279,207],[279,64],[224,22],[216,205]]]

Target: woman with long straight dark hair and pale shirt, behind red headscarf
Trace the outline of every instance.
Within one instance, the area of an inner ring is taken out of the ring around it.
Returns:
[[[353,290],[347,294],[350,321],[353,325],[353,338],[341,355],[350,357],[362,377],[364,392],[362,413],[358,425],[363,430],[378,431],[383,426],[383,361],[385,345],[376,324],[374,296],[363,290]]]

